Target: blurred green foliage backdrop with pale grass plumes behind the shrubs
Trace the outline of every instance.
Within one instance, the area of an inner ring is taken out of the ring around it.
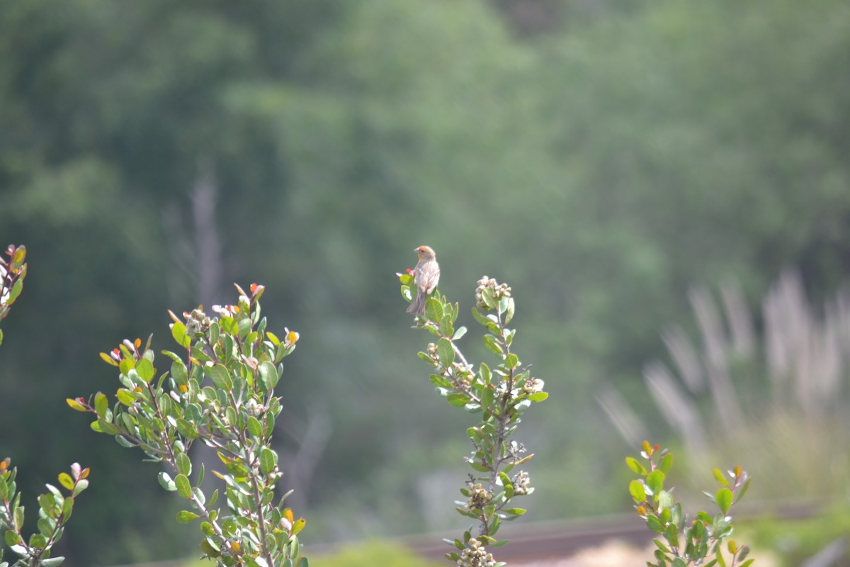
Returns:
[[[196,555],[156,463],[65,398],[256,281],[301,333],[277,439],[303,541],[463,525],[472,417],[394,275],[428,244],[471,360],[475,281],[513,286],[551,394],[519,429],[530,519],[631,510],[646,436],[674,484],[705,459],[755,471],[756,502],[846,505],[848,133],[843,0],[0,3],[0,245],[30,264],[0,456],[31,515],[92,469],[72,567]]]

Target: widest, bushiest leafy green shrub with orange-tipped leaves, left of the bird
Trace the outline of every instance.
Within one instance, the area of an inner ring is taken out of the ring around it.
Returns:
[[[286,330],[281,340],[266,330],[259,303],[263,286],[252,285],[250,296],[236,289],[235,305],[213,307],[218,317],[201,308],[184,313],[185,320],[171,313],[172,337],[185,354],[162,352],[171,361],[170,371],[156,378],[150,338],[144,349],[139,339],[125,340],[101,354],[120,371],[117,403],[110,407],[101,392],[67,402],[94,414],[94,431],[167,464],[171,473],[161,472],[159,482],[193,508],[178,513],[178,522],[201,519],[204,557],[228,567],[308,567],[297,539],[305,521],[294,519],[286,507],[288,493],[275,497],[282,473],[270,446],[282,410],[274,392],[281,360],[292,354],[298,333]],[[202,464],[190,480],[189,451],[198,439],[215,449],[224,465],[223,473],[212,473],[224,480],[226,515],[215,507],[218,490],[210,496],[201,490]]]

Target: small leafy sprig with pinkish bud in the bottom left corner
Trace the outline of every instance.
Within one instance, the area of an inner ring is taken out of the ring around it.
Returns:
[[[50,557],[50,550],[71,519],[74,499],[88,488],[88,468],[75,462],[71,474],[59,474],[59,485],[68,491],[67,495],[54,485],[47,485],[48,492],[38,496],[38,531],[27,539],[22,531],[24,507],[20,505],[20,492],[14,481],[18,469],[9,468],[10,463],[8,457],[0,461],[0,531],[6,545],[20,557],[13,567],[56,567],[65,558]],[[8,567],[8,562],[3,561],[3,547],[0,547],[0,567]]]

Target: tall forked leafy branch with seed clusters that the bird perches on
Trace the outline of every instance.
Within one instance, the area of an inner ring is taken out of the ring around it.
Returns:
[[[414,295],[415,284],[409,274],[399,274],[402,297]],[[511,439],[521,416],[532,402],[546,400],[543,381],[532,377],[527,367],[512,350],[514,329],[507,325],[513,319],[511,288],[484,276],[475,291],[473,317],[484,326],[484,346],[496,355],[498,364],[490,369],[482,362],[477,368],[469,364],[457,346],[467,329],[455,327],[459,307],[445,296],[435,293],[425,303],[425,315],[416,317],[416,327],[438,337],[428,343],[419,357],[433,366],[431,383],[450,405],[480,415],[478,424],[467,429],[473,445],[465,458],[473,469],[467,484],[460,490],[465,501],[456,502],[457,512],[479,523],[478,536],[472,528],[462,539],[445,540],[457,548],[446,557],[459,565],[496,564],[487,547],[500,547],[507,540],[496,540],[503,521],[517,519],[525,509],[513,506],[513,498],[534,491],[529,474],[513,469],[528,462],[524,445]]]

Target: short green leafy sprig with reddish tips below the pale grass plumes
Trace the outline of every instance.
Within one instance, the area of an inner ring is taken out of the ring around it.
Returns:
[[[672,489],[666,490],[664,483],[667,473],[673,465],[672,453],[666,449],[660,450],[659,445],[650,445],[643,441],[640,456],[644,462],[631,456],[626,457],[626,465],[640,478],[629,483],[629,493],[635,502],[638,515],[646,522],[649,530],[664,537],[656,538],[655,560],[648,562],[649,567],[689,567],[703,565],[712,567],[748,567],[755,559],[747,559],[750,548],[738,547],[734,540],[729,540],[726,550],[731,555],[723,557],[723,541],[732,536],[734,526],[729,511],[739,502],[750,487],[750,476],[740,467],[735,467],[724,475],[720,469],[714,469],[714,478],[720,488],[714,492],[705,492],[708,499],[714,502],[719,512],[711,516],[706,512],[697,512],[692,522],[682,512],[682,504],[674,502]],[[713,558],[708,559],[710,556]]]

